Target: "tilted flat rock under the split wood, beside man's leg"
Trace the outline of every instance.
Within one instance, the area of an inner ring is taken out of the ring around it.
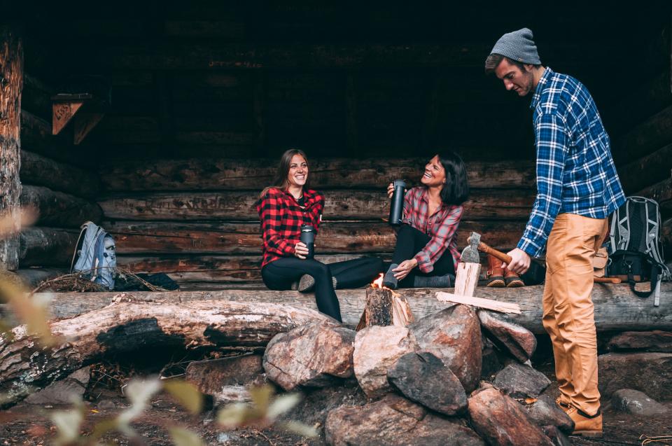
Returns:
[[[521,363],[531,358],[537,348],[537,338],[530,330],[519,326],[504,314],[487,309],[478,310],[478,319],[485,335],[500,350],[508,351]]]

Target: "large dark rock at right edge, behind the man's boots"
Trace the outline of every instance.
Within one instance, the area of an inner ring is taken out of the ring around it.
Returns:
[[[672,353],[608,353],[598,356],[598,389],[610,397],[619,389],[635,389],[672,399]]]

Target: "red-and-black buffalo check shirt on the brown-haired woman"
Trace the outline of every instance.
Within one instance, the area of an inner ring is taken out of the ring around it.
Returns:
[[[303,198],[302,208],[292,194],[272,188],[257,202],[263,240],[262,267],[273,260],[294,255],[294,246],[300,241],[301,225],[313,225],[317,232],[324,209],[324,195],[304,189]]]

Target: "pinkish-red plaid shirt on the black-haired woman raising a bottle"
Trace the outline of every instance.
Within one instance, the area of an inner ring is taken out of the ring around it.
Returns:
[[[422,272],[431,272],[434,270],[434,263],[441,258],[446,249],[449,249],[453,256],[455,270],[457,270],[457,264],[460,261],[460,251],[457,249],[457,227],[464,208],[441,204],[433,215],[428,216],[428,207],[426,187],[412,188],[406,193],[402,222],[431,237],[429,243],[414,256],[418,261],[418,267]]]

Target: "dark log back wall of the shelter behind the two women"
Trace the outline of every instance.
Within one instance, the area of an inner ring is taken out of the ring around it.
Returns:
[[[57,58],[65,68],[55,78],[111,80],[111,109],[77,150],[105,153],[95,201],[119,263],[167,272],[183,288],[243,288],[260,284],[253,203],[289,147],[307,152],[326,195],[325,260],[388,258],[386,184],[416,182],[437,148],[468,163],[459,244],[475,230],[512,248],[535,194],[531,114],[528,98],[484,76],[483,62],[500,34],[531,27],[545,64],[580,79],[601,111],[617,109],[622,80],[603,73],[655,42],[649,28],[664,27],[667,6],[590,8],[519,18],[401,2],[357,13],[308,2],[167,4],[130,20],[73,20],[34,65],[48,72]],[[36,40],[49,28],[36,24]],[[622,126],[603,114],[610,133]]]

